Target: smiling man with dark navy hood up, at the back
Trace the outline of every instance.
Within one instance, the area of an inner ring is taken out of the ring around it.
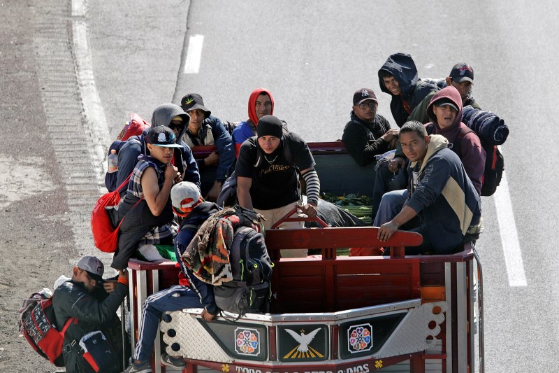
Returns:
[[[398,127],[407,120],[429,122],[425,109],[439,87],[419,80],[412,56],[396,53],[386,59],[379,69],[379,85],[392,96],[390,109]]]

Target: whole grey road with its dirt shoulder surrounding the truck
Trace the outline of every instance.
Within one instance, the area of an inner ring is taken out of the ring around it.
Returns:
[[[502,146],[509,193],[482,201],[486,372],[558,371],[555,2],[12,0],[0,10],[0,159],[18,165],[0,167],[3,372],[51,369],[17,339],[14,310],[46,286],[41,278],[52,283],[95,253],[87,209],[101,192],[96,139],[114,138],[131,112],[149,120],[188,92],[220,118],[244,120],[255,87],[273,93],[275,114],[307,141],[340,139],[358,88],[375,90],[391,119],[377,70],[393,52],[410,53],[423,78],[470,63],[474,97],[511,129]],[[185,74],[193,35],[204,36],[200,68]],[[76,52],[80,40],[89,54]],[[29,143],[40,146],[13,151]],[[508,199],[510,213],[495,203]],[[514,243],[520,255],[509,253]],[[522,276],[525,286],[511,286]]]

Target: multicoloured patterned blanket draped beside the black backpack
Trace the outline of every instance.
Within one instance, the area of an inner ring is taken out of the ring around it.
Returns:
[[[213,286],[233,279],[229,252],[233,235],[240,226],[257,228],[262,216],[252,210],[233,206],[210,216],[196,232],[182,254],[182,262],[201,281]]]

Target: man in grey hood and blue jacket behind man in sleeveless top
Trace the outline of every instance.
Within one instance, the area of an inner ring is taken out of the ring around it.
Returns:
[[[173,160],[171,161],[175,167],[177,167],[182,178],[180,181],[190,181],[195,183],[200,188],[200,174],[198,173],[198,165],[196,160],[194,160],[194,155],[186,143],[181,141],[184,132],[186,132],[187,127],[190,122],[190,117],[187,113],[184,113],[180,106],[175,104],[162,104],[154,109],[152,114],[152,127],[166,126],[173,129],[175,132],[176,143],[182,145],[175,149],[173,153]],[[147,149],[145,136],[149,128],[145,129],[143,134],[140,136],[131,136],[118,150],[118,171],[117,171],[117,181],[115,183],[115,188],[121,185],[126,178],[131,174],[136,162],[138,162],[138,156],[145,154],[150,155],[150,150]],[[109,191],[109,185],[107,185]],[[114,189],[113,189],[114,190]],[[120,196],[124,197],[126,194],[126,188],[120,191]]]

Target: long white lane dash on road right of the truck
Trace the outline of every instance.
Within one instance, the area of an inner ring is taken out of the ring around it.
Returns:
[[[507,274],[509,276],[509,286],[527,286],[522,251],[518,243],[518,233],[516,232],[514,212],[512,211],[509,183],[507,181],[507,174],[504,171],[501,183],[493,197],[495,197],[495,209],[497,210],[504,264],[507,266]]]

